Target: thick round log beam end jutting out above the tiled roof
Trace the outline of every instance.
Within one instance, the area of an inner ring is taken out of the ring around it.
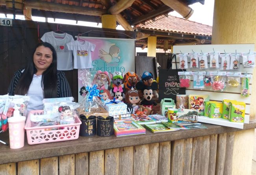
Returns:
[[[177,11],[183,16],[183,18],[188,19],[193,14],[193,9],[187,4],[180,0],[161,0],[165,5],[171,7],[173,10]]]

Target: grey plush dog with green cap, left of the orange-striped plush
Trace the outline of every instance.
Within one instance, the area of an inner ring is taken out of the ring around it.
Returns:
[[[109,76],[112,80],[109,90],[111,89],[113,94],[114,94],[114,92],[123,92],[124,93],[125,88],[122,87],[123,73],[116,71],[112,74],[111,72],[109,72]]]

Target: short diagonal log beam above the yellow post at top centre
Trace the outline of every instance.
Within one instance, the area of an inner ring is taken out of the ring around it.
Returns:
[[[111,14],[119,14],[128,7],[131,7],[134,1],[135,0],[120,0],[115,5],[111,6],[108,12]]]

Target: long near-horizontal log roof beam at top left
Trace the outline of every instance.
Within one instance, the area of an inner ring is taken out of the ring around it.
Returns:
[[[6,1],[0,0],[0,5],[6,5]],[[107,10],[105,9],[92,9],[89,7],[56,4],[56,3],[50,3],[50,2],[40,1],[40,0],[26,0],[24,1],[24,6],[31,9],[93,15],[93,16],[101,16],[102,14],[107,13]]]

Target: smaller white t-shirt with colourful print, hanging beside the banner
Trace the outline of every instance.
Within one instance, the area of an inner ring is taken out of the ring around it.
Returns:
[[[68,50],[73,51],[74,69],[92,68],[92,54],[95,45],[88,41],[72,41],[67,43]]]

